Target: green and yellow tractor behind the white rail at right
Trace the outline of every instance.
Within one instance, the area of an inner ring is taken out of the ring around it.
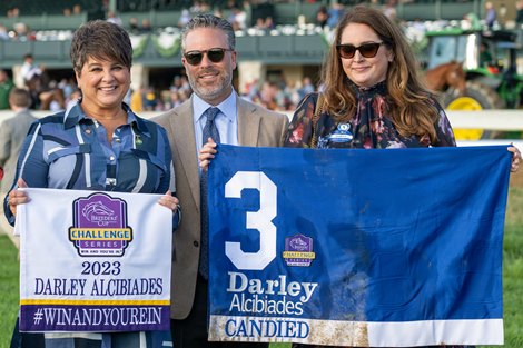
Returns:
[[[445,86],[442,103],[450,110],[523,108],[523,76],[517,73],[517,54],[523,52],[516,34],[509,31],[446,29],[427,32],[426,68],[451,61],[462,63],[465,90]],[[456,138],[477,140],[494,133],[457,130]]]

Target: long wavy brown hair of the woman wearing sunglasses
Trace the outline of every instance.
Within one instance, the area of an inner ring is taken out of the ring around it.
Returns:
[[[365,6],[352,8],[339,20],[335,39],[322,69],[326,110],[338,121],[347,121],[356,112],[357,101],[342,66],[336,44],[349,23],[366,24],[382,39],[393,53],[388,64],[386,84],[389,117],[398,132],[408,137],[428,135],[437,139],[434,123],[438,115],[432,105],[431,93],[417,76],[417,62],[401,28],[381,11]]]

